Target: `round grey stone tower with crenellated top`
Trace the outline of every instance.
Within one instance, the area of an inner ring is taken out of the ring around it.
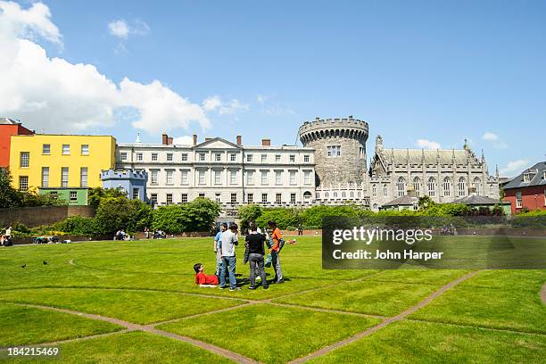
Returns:
[[[315,148],[317,186],[361,185],[366,182],[368,123],[353,119],[305,121],[302,145]]]

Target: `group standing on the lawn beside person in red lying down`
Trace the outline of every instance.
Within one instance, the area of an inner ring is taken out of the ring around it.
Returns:
[[[279,253],[282,249],[283,236],[275,221],[268,222],[270,235],[262,234],[259,227],[251,222],[248,234],[244,238],[245,261],[250,264],[250,285],[249,289],[256,289],[256,278],[261,278],[263,289],[269,288],[269,283],[264,270],[266,248],[268,246],[271,266],[275,270],[275,277],[270,284],[282,284],[283,272],[281,269]],[[216,254],[216,272],[214,275],[206,275],[201,263],[194,264],[195,283],[198,285],[219,285],[220,288],[227,288],[228,279],[229,291],[240,290],[236,281],[236,246],[238,242],[238,227],[232,223],[222,223],[219,233],[214,237],[214,252]]]

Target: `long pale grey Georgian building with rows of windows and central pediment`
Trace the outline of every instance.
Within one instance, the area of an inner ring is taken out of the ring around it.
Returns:
[[[119,144],[116,168],[145,170],[147,196],[158,205],[207,197],[224,206],[262,203],[269,206],[310,205],[315,195],[312,148],[294,145],[243,145],[221,137],[193,145]]]

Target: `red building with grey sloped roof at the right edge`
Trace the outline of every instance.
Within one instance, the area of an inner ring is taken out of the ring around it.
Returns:
[[[504,201],[511,203],[512,213],[524,208],[546,210],[546,161],[524,170],[503,188]]]

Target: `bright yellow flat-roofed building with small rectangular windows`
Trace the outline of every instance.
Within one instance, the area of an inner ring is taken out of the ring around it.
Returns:
[[[115,150],[113,136],[12,136],[12,185],[48,191],[102,186],[101,170],[114,167]],[[80,192],[77,194],[79,199]],[[75,196],[70,192],[69,202],[76,203]]]

